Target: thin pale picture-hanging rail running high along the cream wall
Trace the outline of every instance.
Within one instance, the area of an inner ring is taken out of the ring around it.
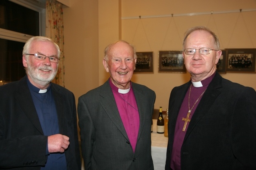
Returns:
[[[197,12],[197,13],[187,13],[187,14],[170,14],[170,15],[157,15],[157,16],[132,16],[132,17],[122,17],[122,20],[128,19],[140,19],[140,18],[162,18],[162,17],[174,17],[174,16],[196,16],[196,15],[206,15],[206,14],[225,14],[225,13],[234,13],[234,12],[250,12],[256,11],[256,9],[247,9],[247,10],[233,10],[233,11],[218,11],[218,12]]]

